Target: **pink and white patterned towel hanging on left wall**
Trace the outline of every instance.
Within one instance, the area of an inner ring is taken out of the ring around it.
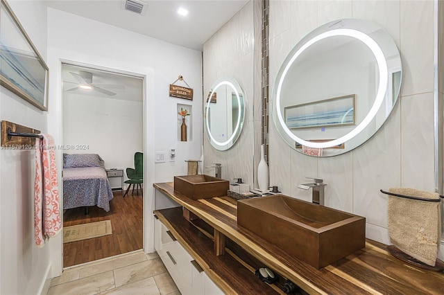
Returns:
[[[40,135],[42,140],[35,139],[34,181],[35,244],[39,248],[62,229],[54,139],[49,134]]]

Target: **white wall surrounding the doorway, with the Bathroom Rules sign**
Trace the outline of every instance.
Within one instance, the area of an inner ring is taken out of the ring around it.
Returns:
[[[85,34],[87,32],[87,34]],[[144,249],[153,247],[153,183],[186,174],[185,159],[199,159],[202,143],[201,53],[59,10],[48,10],[50,73],[49,131],[62,144],[61,63],[72,61],[134,73],[144,84]],[[169,84],[182,75],[194,100],[169,97]],[[193,141],[177,141],[177,104],[193,106]],[[155,151],[176,149],[176,162],[154,164]],[[61,152],[59,152],[61,158]],[[62,244],[57,249],[61,253]],[[58,255],[54,251],[54,255]],[[61,268],[54,272],[60,275]]]

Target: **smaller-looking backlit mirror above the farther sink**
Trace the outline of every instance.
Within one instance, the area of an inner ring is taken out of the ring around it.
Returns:
[[[233,78],[212,85],[204,110],[205,134],[216,150],[228,150],[239,138],[245,117],[245,95]]]

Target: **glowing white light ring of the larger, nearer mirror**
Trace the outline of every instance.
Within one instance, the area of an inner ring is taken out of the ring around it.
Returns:
[[[293,62],[298,58],[298,56],[305,51],[309,46],[313,45],[314,43],[321,41],[322,39],[325,39],[327,37],[333,37],[333,36],[348,36],[348,37],[354,37],[358,39],[359,41],[363,42],[370,48],[373,55],[375,55],[375,59],[377,61],[377,66],[379,69],[379,86],[377,89],[377,94],[375,98],[375,102],[373,102],[373,105],[368,111],[368,114],[365,116],[364,120],[361,121],[355,127],[355,129],[352,129],[352,131],[348,132],[348,134],[345,134],[344,136],[341,136],[340,138],[334,139],[333,141],[325,141],[321,143],[313,143],[311,141],[305,141],[302,138],[299,138],[296,136],[296,134],[293,134],[291,130],[287,127],[287,125],[284,122],[284,119],[282,118],[282,114],[280,111],[280,92],[282,89],[282,83],[284,82],[285,75],[287,75],[287,72],[289,71],[290,66],[293,64]],[[317,35],[316,37],[310,39],[307,43],[305,43],[301,48],[296,51],[296,53],[291,57],[289,60],[287,66],[285,66],[284,71],[282,71],[282,75],[279,80],[278,89],[276,93],[276,113],[278,114],[278,119],[280,124],[282,125],[282,129],[284,129],[284,132],[290,136],[293,141],[296,141],[297,143],[300,143],[301,145],[305,145],[307,147],[315,147],[315,148],[325,148],[325,147],[333,147],[335,145],[341,145],[342,143],[345,143],[345,141],[349,141],[353,137],[357,136],[359,132],[361,132],[367,125],[370,123],[371,120],[375,117],[377,111],[379,110],[379,107],[381,107],[382,102],[384,101],[385,93],[386,93],[386,87],[387,87],[387,79],[388,79],[388,69],[387,69],[387,62],[386,58],[384,56],[384,53],[382,52],[382,49],[379,48],[378,44],[373,40],[370,36],[366,35],[365,33],[362,33],[359,30],[353,30],[349,28],[340,28],[336,30],[330,30],[325,33],[322,33],[320,35]]]

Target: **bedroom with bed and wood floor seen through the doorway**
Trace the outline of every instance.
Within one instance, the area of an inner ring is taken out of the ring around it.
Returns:
[[[63,225],[109,220],[112,231],[65,242],[69,267],[143,248],[143,186],[123,197],[122,183],[144,152],[144,79],[63,63],[62,80]]]

